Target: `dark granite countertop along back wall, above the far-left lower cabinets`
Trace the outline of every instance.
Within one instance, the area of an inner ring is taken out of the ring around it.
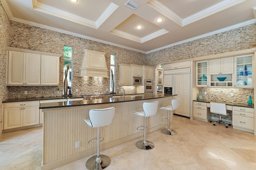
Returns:
[[[56,100],[56,99],[76,99],[83,98],[83,96],[56,96],[56,97],[40,97],[40,98],[18,98],[18,99],[8,99],[3,101],[2,103],[10,103],[10,102],[30,102],[37,100]]]

